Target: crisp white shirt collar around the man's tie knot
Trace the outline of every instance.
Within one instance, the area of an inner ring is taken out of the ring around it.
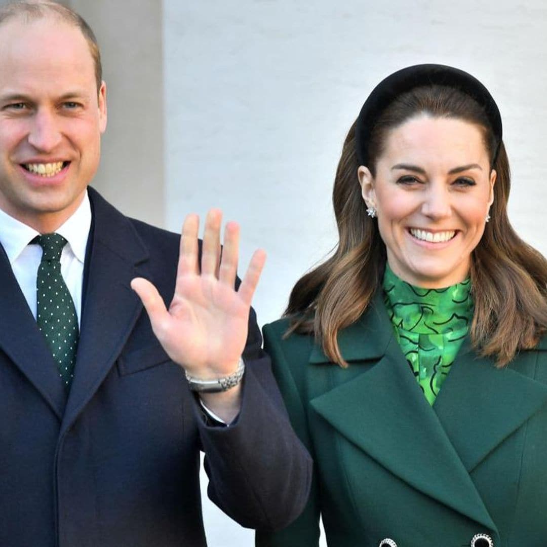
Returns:
[[[87,190],[84,199],[59,229],[57,234],[62,235],[70,244],[74,256],[83,264],[85,260],[85,247],[88,243],[89,230],[91,228],[91,206]],[[30,226],[11,217],[0,209],[0,243],[8,255],[11,265],[19,258],[25,247],[39,232]]]

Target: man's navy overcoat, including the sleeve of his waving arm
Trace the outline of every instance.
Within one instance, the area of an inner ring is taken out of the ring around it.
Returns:
[[[93,221],[68,397],[0,252],[0,545],[205,545],[200,448],[209,494],[226,513],[243,526],[286,525],[304,507],[311,463],[260,350],[254,312],[240,416],[229,428],[207,427],[129,285],[146,277],[170,302],[179,237],[89,194]]]

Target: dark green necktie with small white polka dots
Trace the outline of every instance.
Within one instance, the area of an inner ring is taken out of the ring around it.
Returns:
[[[59,234],[44,234],[35,237],[33,243],[44,251],[36,277],[36,321],[68,390],[78,349],[78,317],[61,275],[60,258],[67,240]]]

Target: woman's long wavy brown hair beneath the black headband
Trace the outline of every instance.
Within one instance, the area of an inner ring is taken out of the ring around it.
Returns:
[[[375,176],[377,159],[390,130],[426,113],[476,124],[497,172],[491,220],[474,249],[470,276],[475,311],[470,327],[473,347],[506,365],[519,350],[537,345],[547,330],[547,260],[523,242],[509,223],[509,161],[503,142],[496,142],[482,107],[453,88],[427,86],[401,95],[377,121],[368,149]],[[339,242],[333,255],[296,282],[285,315],[289,333],[313,334],[325,354],[347,366],[337,343],[339,330],[357,321],[381,287],[386,248],[376,220],[366,214],[357,178],[355,124],[336,170],[333,204]]]

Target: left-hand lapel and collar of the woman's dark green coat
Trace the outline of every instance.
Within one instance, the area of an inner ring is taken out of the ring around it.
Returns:
[[[455,446],[406,363],[381,293],[361,321],[340,336],[339,345],[347,360],[380,360],[344,383],[340,379],[346,371],[333,367],[331,377],[339,379],[334,381],[336,387],[313,399],[313,408],[407,484],[497,531]],[[315,350],[310,360],[321,362],[321,354]],[[323,357],[325,361],[328,359]],[[358,365],[350,363],[350,370],[352,366]]]

